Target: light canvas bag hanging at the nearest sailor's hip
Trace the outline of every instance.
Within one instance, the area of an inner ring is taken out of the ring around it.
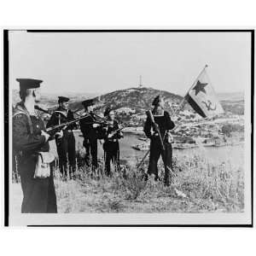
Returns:
[[[38,152],[38,160],[34,178],[46,178],[50,176],[49,164],[55,160],[55,155],[50,152]]]

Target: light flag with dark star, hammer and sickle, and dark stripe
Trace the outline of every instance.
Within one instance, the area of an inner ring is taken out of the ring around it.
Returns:
[[[203,118],[224,113],[205,69],[195,80],[185,99],[195,112],[199,113]]]

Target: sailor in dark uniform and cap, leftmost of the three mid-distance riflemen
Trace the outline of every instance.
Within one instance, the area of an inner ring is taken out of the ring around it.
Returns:
[[[59,108],[52,113],[46,127],[61,125],[74,119],[73,112],[68,109],[69,98],[59,96]],[[63,177],[67,177],[67,162],[69,164],[69,174],[73,177],[76,170],[76,148],[73,130],[77,128],[75,123],[68,125],[62,129],[63,136],[55,137],[57,153],[59,156],[59,167]],[[67,161],[68,160],[68,161]]]

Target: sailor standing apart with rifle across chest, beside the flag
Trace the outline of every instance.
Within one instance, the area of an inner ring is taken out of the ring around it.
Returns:
[[[172,170],[172,135],[170,130],[174,128],[174,123],[170,117],[170,114],[164,110],[164,100],[160,96],[156,96],[152,105],[154,109],[152,111],[154,116],[154,122],[159,125],[160,134],[154,131],[153,124],[148,118],[144,125],[144,132],[148,138],[151,139],[150,143],[150,155],[148,164],[148,175],[154,174],[155,180],[158,179],[157,162],[162,156],[162,160],[165,164],[165,184],[170,185],[170,169]],[[152,130],[153,129],[153,133]],[[160,136],[163,138],[165,151],[163,152],[160,147]]]

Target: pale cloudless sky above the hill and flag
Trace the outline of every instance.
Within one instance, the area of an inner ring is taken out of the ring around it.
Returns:
[[[185,95],[201,69],[218,92],[250,87],[247,32],[9,32],[9,84],[42,79],[42,92],[104,94],[143,86]]]

